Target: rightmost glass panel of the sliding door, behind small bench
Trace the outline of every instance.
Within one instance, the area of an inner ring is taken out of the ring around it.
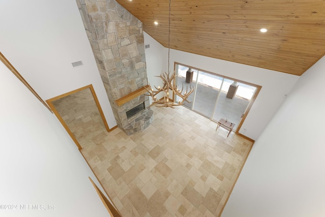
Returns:
[[[214,121],[220,118],[228,119],[235,123],[236,130],[255,90],[256,87],[224,79],[212,119]]]

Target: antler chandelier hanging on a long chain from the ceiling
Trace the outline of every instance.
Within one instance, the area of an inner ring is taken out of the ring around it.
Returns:
[[[156,90],[153,90],[149,84],[149,88],[145,87],[146,90],[148,91],[149,95],[151,96],[153,100],[153,104],[155,104],[156,107],[171,107],[174,108],[174,106],[181,106],[184,105],[185,102],[190,103],[187,100],[187,97],[194,91],[194,88],[190,86],[190,89],[188,91],[188,88],[186,86],[186,91],[183,94],[183,84],[182,84],[182,89],[179,90],[177,86],[175,85],[175,78],[176,78],[176,72],[174,71],[172,74],[170,73],[169,70],[169,52],[170,52],[170,33],[171,33],[171,0],[169,0],[169,25],[168,25],[168,73],[167,72],[161,72],[160,76],[155,76],[155,77],[160,77],[161,80],[163,80],[163,87],[156,87]],[[163,92],[164,97],[161,99],[157,99],[156,95],[159,94],[160,92]],[[174,96],[178,96],[181,99],[178,102],[174,102],[169,98],[169,94],[172,94],[173,99]]]

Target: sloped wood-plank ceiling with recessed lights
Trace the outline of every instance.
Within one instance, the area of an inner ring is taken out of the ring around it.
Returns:
[[[116,1],[168,47],[169,0]],[[170,48],[279,72],[325,53],[325,0],[171,0],[170,21]]]

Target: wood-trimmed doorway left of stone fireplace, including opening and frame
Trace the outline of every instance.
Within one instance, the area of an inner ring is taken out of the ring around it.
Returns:
[[[101,105],[91,84],[46,100],[46,102],[79,150],[82,149],[80,141],[87,139],[84,137],[90,135],[84,134],[85,130],[98,136],[105,129],[107,132],[114,129],[108,127]]]

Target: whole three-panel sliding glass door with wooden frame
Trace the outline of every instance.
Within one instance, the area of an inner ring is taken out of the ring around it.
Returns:
[[[235,123],[239,132],[262,86],[175,63],[176,85],[190,85],[194,92],[184,106],[215,122],[221,118]],[[188,78],[190,76],[190,78]],[[176,101],[178,101],[178,97]]]

